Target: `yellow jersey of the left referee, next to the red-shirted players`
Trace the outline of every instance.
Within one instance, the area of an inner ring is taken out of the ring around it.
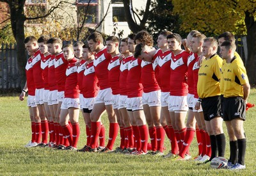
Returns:
[[[198,70],[197,93],[200,99],[220,95],[222,59],[215,54],[203,60]]]

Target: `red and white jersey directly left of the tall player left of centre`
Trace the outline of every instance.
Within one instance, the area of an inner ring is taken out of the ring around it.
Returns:
[[[93,61],[87,63],[84,70],[83,77],[83,96],[84,98],[96,97],[99,91],[98,78],[95,74],[95,67],[93,67]]]

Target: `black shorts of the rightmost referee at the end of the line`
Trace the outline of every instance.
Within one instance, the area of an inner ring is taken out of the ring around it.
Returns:
[[[245,120],[246,104],[242,97],[229,97],[223,99],[223,120],[231,121],[235,118]]]

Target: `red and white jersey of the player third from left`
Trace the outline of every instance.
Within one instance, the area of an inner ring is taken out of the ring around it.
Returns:
[[[68,61],[65,60],[63,56],[63,52],[60,52],[55,56],[54,68],[55,68],[55,78],[56,78],[58,92],[65,90],[65,81],[66,81],[65,72],[67,69],[67,65],[68,65]]]

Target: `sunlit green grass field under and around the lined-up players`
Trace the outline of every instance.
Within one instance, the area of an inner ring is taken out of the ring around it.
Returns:
[[[256,90],[248,102],[256,103]],[[209,164],[197,166],[194,161],[170,161],[159,156],[125,156],[56,151],[52,148],[25,148],[31,137],[26,100],[17,96],[0,97],[0,175],[256,175],[256,108],[250,108],[244,124],[247,136],[246,170],[213,170]],[[107,117],[102,118],[108,132]],[[85,125],[80,115],[81,138],[85,143]],[[225,125],[223,125],[225,131]],[[227,134],[227,133],[226,133]],[[108,136],[108,134],[106,134]],[[229,156],[227,139],[226,157]],[[116,140],[116,147],[119,138]],[[168,152],[170,143],[165,141]],[[190,152],[196,156],[196,142]],[[254,163],[255,162],[255,163]]]

